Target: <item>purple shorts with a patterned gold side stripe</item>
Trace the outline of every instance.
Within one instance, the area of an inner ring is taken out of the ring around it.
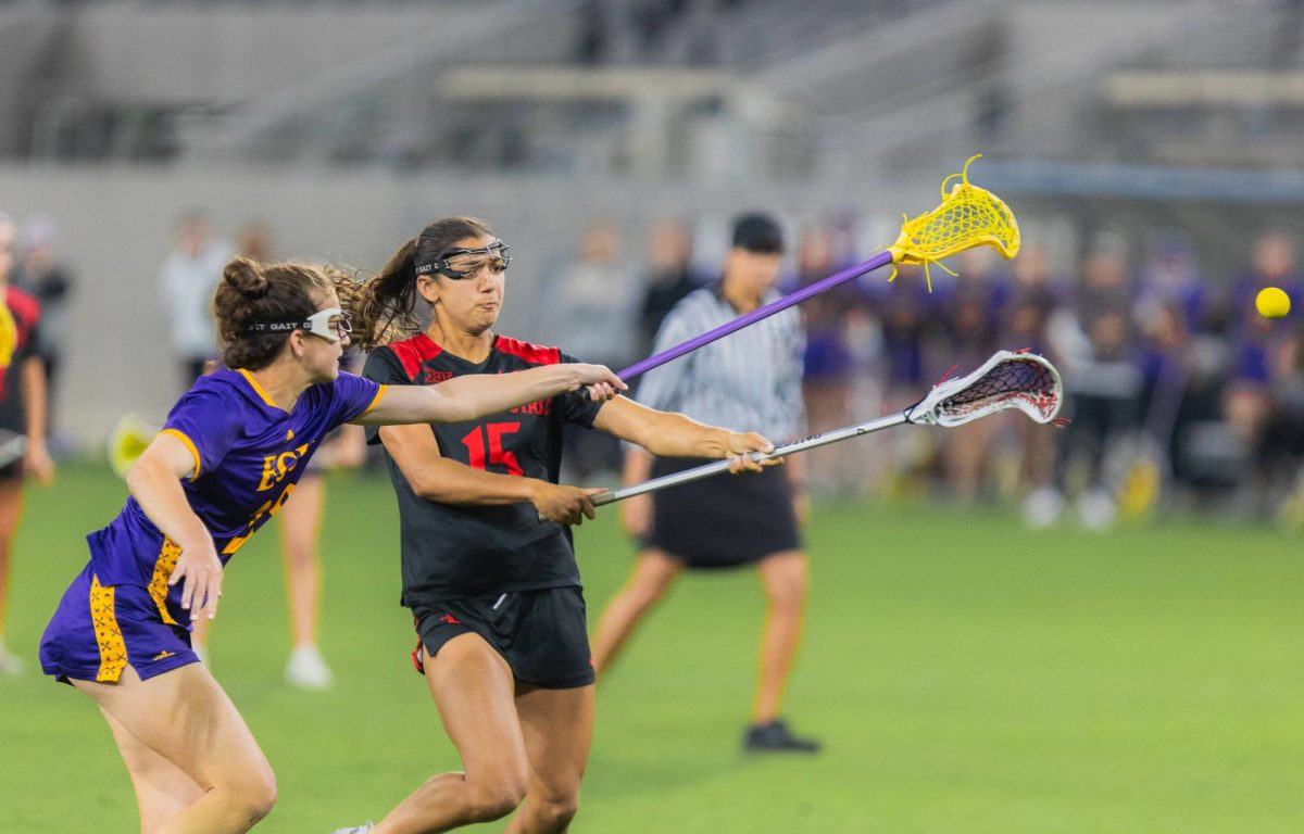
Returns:
[[[117,683],[130,666],[142,680],[198,662],[190,632],[149,588],[100,585],[91,566],[73,580],[40,637],[40,669],[56,680]]]

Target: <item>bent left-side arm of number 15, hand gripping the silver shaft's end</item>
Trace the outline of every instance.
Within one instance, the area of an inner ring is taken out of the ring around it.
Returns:
[[[484,472],[439,453],[429,426],[385,426],[381,442],[419,496],[441,504],[532,503],[545,519],[580,524],[593,517],[589,495],[601,490],[559,486],[539,478]]]

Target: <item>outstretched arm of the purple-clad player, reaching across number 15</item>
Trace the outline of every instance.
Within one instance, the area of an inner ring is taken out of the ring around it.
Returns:
[[[353,422],[372,426],[467,422],[584,386],[595,401],[626,388],[601,365],[545,365],[511,374],[455,377],[434,386],[390,386],[376,407]]]

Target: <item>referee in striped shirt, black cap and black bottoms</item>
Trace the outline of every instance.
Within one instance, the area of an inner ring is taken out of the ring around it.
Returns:
[[[773,219],[763,214],[739,218],[720,283],[689,295],[670,310],[653,352],[776,300],[782,252],[782,232]],[[801,314],[790,308],[648,371],[638,399],[700,422],[760,431],[776,444],[792,440],[802,434],[805,422],[805,347]],[[643,450],[631,450],[626,453],[623,482],[638,483],[699,464],[687,459],[653,460]],[[765,589],[768,611],[760,636],[756,701],[743,748],[819,751],[816,741],[794,736],[780,718],[806,601],[806,554],[798,533],[803,502],[797,457],[759,476],[716,476],[626,500],[622,521],[642,539],[643,550],[634,573],[599,623],[593,639],[599,676],[610,669],[635,627],[685,568],[752,566]]]

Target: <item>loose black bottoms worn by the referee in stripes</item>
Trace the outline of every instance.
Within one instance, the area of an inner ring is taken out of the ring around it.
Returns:
[[[659,457],[652,463],[652,477],[700,465],[696,459]],[[782,467],[672,486],[653,495],[652,504],[652,530],[644,545],[690,568],[754,564],[802,546],[793,490]]]

